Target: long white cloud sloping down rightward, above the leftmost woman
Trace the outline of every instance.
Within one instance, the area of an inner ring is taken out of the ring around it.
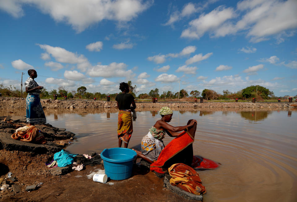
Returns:
[[[70,63],[70,64],[88,62],[88,59],[84,57],[84,55],[82,54],[80,55],[75,54],[61,47],[53,47],[46,44],[44,45],[37,44],[37,45],[39,45],[40,48],[44,49],[48,54],[51,54],[58,62]]]

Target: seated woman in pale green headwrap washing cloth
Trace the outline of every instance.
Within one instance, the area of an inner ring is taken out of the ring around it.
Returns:
[[[192,120],[186,126],[171,126],[168,122],[171,121],[173,111],[168,107],[162,107],[159,111],[161,115],[161,119],[158,120],[154,126],[149,129],[147,135],[145,135],[141,140],[141,152],[136,151],[137,157],[141,157],[145,161],[149,163],[153,163],[153,161],[157,161],[161,151],[163,150],[164,143],[162,139],[165,137],[165,133],[167,133],[170,137],[176,137],[179,135],[179,131],[183,131],[186,128],[190,128],[197,121]]]

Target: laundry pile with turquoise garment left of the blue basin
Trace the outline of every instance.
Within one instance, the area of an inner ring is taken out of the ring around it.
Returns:
[[[49,168],[71,166],[72,170],[83,170],[85,165],[101,164],[100,154],[91,152],[89,154],[70,154],[64,149],[54,154],[52,161],[45,162]]]

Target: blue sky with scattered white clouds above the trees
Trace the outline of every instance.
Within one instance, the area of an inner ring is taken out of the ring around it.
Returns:
[[[297,94],[297,1],[0,0],[0,84]]]

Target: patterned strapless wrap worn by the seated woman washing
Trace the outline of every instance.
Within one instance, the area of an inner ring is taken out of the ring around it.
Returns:
[[[147,135],[141,140],[141,153],[151,161],[157,161],[161,151],[164,149],[162,139],[165,137],[165,131],[151,127]]]

